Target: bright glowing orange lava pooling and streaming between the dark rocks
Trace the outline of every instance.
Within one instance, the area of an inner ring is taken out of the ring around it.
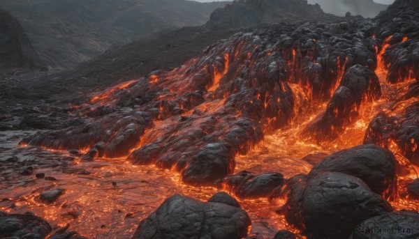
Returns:
[[[377,47],[378,67],[376,75],[380,79],[383,91],[381,100],[367,102],[360,106],[360,109],[358,109],[360,117],[354,118],[353,122],[346,126],[344,132],[339,133],[339,137],[321,143],[314,142],[309,137],[302,137],[302,130],[305,128],[305,125],[316,118],[316,115],[325,108],[325,104],[315,105],[314,102],[311,102],[310,109],[303,109],[304,102],[309,102],[311,95],[302,86],[291,84],[290,87],[293,89],[295,104],[298,109],[298,111],[295,111],[295,118],[286,127],[265,135],[264,140],[253,148],[251,152],[246,155],[237,155],[235,157],[235,171],[247,170],[252,171],[254,174],[275,171],[284,174],[286,178],[297,174],[308,174],[314,164],[302,160],[304,156],[310,154],[325,155],[360,145],[364,139],[369,122],[372,121],[378,112],[386,111],[389,114],[397,114],[399,110],[408,106],[412,100],[418,100],[413,98],[405,102],[399,102],[398,105],[393,107],[388,106],[388,102],[395,100],[395,98],[400,97],[407,91],[406,86],[409,84],[409,81],[405,81],[390,85],[385,81],[388,65],[384,63],[383,54],[385,49],[390,47],[388,43],[390,38],[385,39],[379,53]],[[237,56],[238,54],[235,51],[234,55]],[[248,56],[250,57],[249,54]],[[293,54],[292,64],[294,64],[295,50],[291,54]],[[207,91],[216,91],[216,88],[219,87],[221,79],[228,73],[229,58],[230,53],[224,54],[221,69],[214,67],[213,81],[207,87]],[[195,61],[196,59],[193,59],[189,63]],[[333,92],[337,89],[339,82],[344,76],[347,61],[348,58],[337,59],[337,82],[332,88]],[[207,68],[208,66],[205,67]],[[172,72],[165,75],[164,80],[162,80],[163,78],[159,79],[156,75],[151,75],[149,84],[167,86],[169,83],[176,82],[177,77],[182,77],[179,76],[179,72],[186,68],[187,65],[184,65],[182,68],[172,70]],[[193,79],[187,80],[192,82]],[[122,91],[134,82],[136,81],[125,82],[107,91],[96,93],[91,98],[91,102],[99,103],[100,105],[110,102],[114,93]],[[172,84],[173,88],[170,88],[170,94],[159,95],[157,100],[173,99],[177,95],[182,95],[182,91],[178,91],[178,89],[184,89],[186,86],[181,84],[182,82]],[[285,87],[282,87],[285,90]],[[263,93],[262,95],[259,93],[258,100],[263,98],[263,96]],[[263,106],[266,108],[267,98],[265,97],[264,99]],[[184,111],[180,116],[193,116],[193,111],[200,111],[199,118],[193,119],[193,127],[205,132],[205,129],[200,128],[200,122],[212,117],[212,113],[219,111],[225,102],[225,99],[205,102],[198,107]],[[160,110],[164,110],[163,105],[160,105]],[[186,134],[195,129],[193,127],[172,129],[172,126],[175,125],[173,121],[173,118],[162,118],[154,121],[154,126],[147,129],[145,134],[142,135],[137,148],[162,138],[163,134],[168,133],[168,130],[173,130],[172,135],[175,136]],[[82,148],[82,152],[87,152],[87,150],[88,148]],[[131,152],[133,150],[135,148]],[[418,178],[417,172],[419,169],[412,166],[409,160],[406,160],[401,155],[396,144],[390,146],[390,151],[395,153],[400,164],[407,165],[411,169],[409,174],[399,176],[399,195],[395,196],[395,199],[392,199],[390,203],[396,210],[409,209],[418,211],[419,201],[413,201],[409,199],[409,196],[406,196],[406,185],[411,180]],[[52,151],[50,153],[64,154],[64,152],[60,151]],[[215,187],[185,185],[181,183],[181,175],[175,170],[159,169],[154,165],[135,166],[125,162],[124,159],[101,158],[94,162],[76,163],[74,169],[86,169],[90,174],[67,174],[64,169],[61,171],[46,169],[46,174],[52,174],[56,178],[65,178],[65,180],[54,182],[35,180],[33,183],[38,188],[35,191],[33,191],[35,186],[17,187],[19,183],[16,183],[10,189],[0,191],[3,193],[3,197],[15,201],[15,209],[10,208],[8,205],[3,206],[3,204],[0,204],[0,209],[13,213],[24,213],[30,210],[54,224],[65,225],[71,223],[72,230],[79,231],[84,236],[91,238],[129,238],[138,226],[138,222],[159,207],[161,202],[168,196],[181,193],[194,199],[206,201],[219,191]],[[41,190],[50,187],[63,188],[66,193],[53,206],[46,206],[36,201],[36,197]],[[242,207],[244,210],[247,210],[252,219],[251,234],[255,231],[258,231],[258,233],[262,231],[262,234],[259,236],[272,239],[277,230],[287,229],[296,233],[298,238],[304,238],[301,236],[300,231],[286,222],[284,215],[275,213],[275,210],[285,202],[284,200],[277,200],[274,203],[268,202],[267,199],[241,200],[237,198],[237,200],[240,201]],[[128,215],[130,216],[128,217]],[[105,226],[103,227],[103,225]]]

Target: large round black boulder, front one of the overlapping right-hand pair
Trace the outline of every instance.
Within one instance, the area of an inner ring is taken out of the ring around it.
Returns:
[[[284,206],[288,222],[313,238],[332,239],[348,238],[357,224],[390,210],[359,178],[330,172],[295,183]]]

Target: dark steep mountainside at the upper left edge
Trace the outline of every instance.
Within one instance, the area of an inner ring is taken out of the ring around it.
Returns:
[[[0,8],[0,71],[41,68],[41,61],[29,43],[19,21]]]

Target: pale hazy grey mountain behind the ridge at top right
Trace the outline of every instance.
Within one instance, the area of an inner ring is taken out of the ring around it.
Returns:
[[[352,15],[362,17],[375,17],[388,5],[376,3],[373,0],[309,0],[309,3],[318,3],[325,13],[344,16],[350,12]]]

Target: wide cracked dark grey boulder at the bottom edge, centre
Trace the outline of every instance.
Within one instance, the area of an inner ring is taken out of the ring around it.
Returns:
[[[249,226],[249,215],[240,208],[175,195],[140,222],[133,239],[240,239]]]

